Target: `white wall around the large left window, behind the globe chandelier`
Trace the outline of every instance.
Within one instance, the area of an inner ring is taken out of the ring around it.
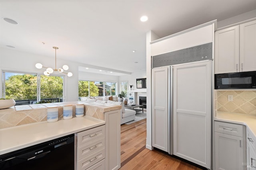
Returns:
[[[0,47],[0,71],[20,71],[20,72],[44,72],[44,68],[37,69],[36,63],[42,63],[44,66],[55,67],[54,57],[45,57],[35,55],[31,53],[24,53],[21,51],[10,50]],[[57,65],[67,64],[69,66],[69,72],[73,73],[72,77],[66,76],[66,101],[78,101],[78,63],[72,61],[57,60]],[[57,73],[58,74],[58,73]],[[62,74],[63,75],[63,74]],[[2,80],[2,74],[0,74]],[[0,89],[2,97],[2,83],[0,83]]]

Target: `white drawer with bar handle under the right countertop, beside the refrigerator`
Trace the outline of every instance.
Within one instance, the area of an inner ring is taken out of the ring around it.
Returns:
[[[222,121],[214,121],[214,131],[242,137],[243,136],[243,125],[238,125],[238,124],[234,124],[234,123],[226,123],[226,122],[222,122]]]

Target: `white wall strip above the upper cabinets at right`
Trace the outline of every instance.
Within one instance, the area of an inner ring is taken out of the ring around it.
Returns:
[[[244,14],[240,14],[238,16],[228,18],[226,20],[218,21],[217,27],[218,28],[226,27],[228,25],[232,25],[232,24],[239,23],[242,21],[250,20],[252,18],[256,18],[256,10],[252,10],[252,11],[246,12]]]

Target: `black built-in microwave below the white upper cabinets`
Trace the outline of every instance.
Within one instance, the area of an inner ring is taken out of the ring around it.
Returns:
[[[256,71],[215,74],[214,88],[256,88]]]

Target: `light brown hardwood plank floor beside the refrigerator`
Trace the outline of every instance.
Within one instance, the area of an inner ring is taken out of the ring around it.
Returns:
[[[146,119],[121,125],[120,170],[201,170],[158,150],[146,149],[145,146]]]

